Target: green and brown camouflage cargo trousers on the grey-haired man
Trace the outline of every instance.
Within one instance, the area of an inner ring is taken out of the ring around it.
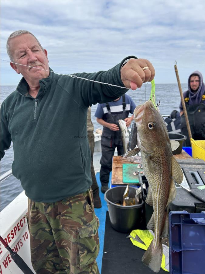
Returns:
[[[28,199],[28,225],[37,274],[99,274],[99,220],[91,188],[59,202]]]

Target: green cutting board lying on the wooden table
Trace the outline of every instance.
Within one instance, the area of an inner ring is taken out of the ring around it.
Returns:
[[[139,184],[138,175],[133,175],[134,171],[143,171],[142,168],[137,168],[138,163],[136,164],[122,164],[122,181],[125,184]]]

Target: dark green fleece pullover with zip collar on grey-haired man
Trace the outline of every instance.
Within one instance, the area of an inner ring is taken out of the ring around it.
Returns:
[[[123,61],[108,71],[75,75],[124,86],[120,77]],[[88,107],[113,101],[127,90],[54,72],[39,84],[34,99],[22,78],[2,103],[1,159],[12,141],[12,173],[26,195],[36,202],[56,202],[83,193],[92,184]]]

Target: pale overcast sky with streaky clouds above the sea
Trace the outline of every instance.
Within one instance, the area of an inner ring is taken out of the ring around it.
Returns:
[[[205,78],[205,1],[1,0],[1,59],[6,40],[29,30],[59,73],[107,70],[128,55],[155,67],[155,83],[181,83],[194,70]],[[1,85],[21,76],[1,61]]]

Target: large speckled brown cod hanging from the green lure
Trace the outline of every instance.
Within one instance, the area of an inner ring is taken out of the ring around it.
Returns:
[[[162,262],[162,237],[167,237],[169,233],[169,203],[176,196],[174,181],[180,184],[183,180],[183,172],[172,154],[172,150],[175,150],[179,143],[169,139],[164,119],[151,101],[135,108],[134,120],[138,148],[129,151],[126,156],[141,152],[142,167],[149,183],[145,202],[154,209],[147,228],[153,230],[155,235],[142,257],[142,262],[154,272],[159,272]]]

